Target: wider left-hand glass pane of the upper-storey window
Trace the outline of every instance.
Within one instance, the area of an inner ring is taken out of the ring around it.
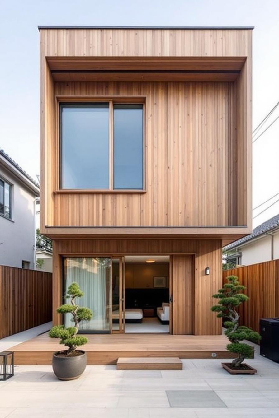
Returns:
[[[108,189],[109,107],[61,105],[62,189]]]

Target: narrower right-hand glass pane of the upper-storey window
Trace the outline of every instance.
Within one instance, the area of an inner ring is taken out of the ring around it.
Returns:
[[[113,125],[114,189],[142,189],[142,104],[115,104]]]

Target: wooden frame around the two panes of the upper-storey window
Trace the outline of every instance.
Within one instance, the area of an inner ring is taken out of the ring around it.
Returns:
[[[62,108],[63,107],[90,107],[92,104],[109,104],[109,187],[107,189],[67,189],[62,187]],[[141,105],[142,106],[142,188],[141,189],[114,189],[114,125],[113,125],[113,110],[114,105]],[[146,156],[145,156],[145,102],[141,101],[120,101],[119,99],[103,99],[103,100],[90,100],[88,102],[71,101],[64,102],[59,101],[59,190],[56,192],[73,192],[73,193],[145,193],[145,170],[146,170]]]

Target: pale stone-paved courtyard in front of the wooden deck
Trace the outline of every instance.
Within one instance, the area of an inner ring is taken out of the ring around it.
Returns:
[[[278,418],[279,364],[256,354],[255,376],[230,376],[220,359],[183,360],[183,370],[87,366],[57,380],[50,366],[18,366],[0,382],[0,418]]]

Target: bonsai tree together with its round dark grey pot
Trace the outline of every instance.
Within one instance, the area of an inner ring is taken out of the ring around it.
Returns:
[[[58,314],[70,314],[74,325],[67,328],[64,325],[58,325],[49,331],[51,338],[59,338],[60,344],[67,347],[65,350],[54,353],[52,359],[54,373],[60,380],[76,379],[86,367],[86,353],[83,350],[77,350],[77,347],[86,344],[88,339],[85,336],[77,335],[77,332],[80,321],[92,319],[92,311],[76,303],[75,299],[82,296],[83,292],[79,285],[75,282],[71,283],[65,296],[65,298],[70,298],[70,303],[59,306],[56,311]]]

